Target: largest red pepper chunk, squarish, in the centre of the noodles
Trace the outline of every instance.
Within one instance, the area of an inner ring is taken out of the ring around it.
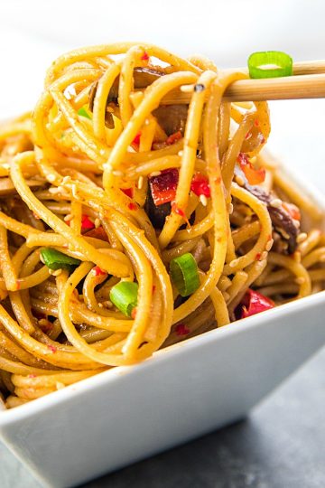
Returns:
[[[153,202],[156,206],[175,199],[179,173],[176,168],[163,170],[159,176],[149,178]]]

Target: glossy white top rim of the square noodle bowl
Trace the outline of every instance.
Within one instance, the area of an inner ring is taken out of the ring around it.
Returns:
[[[279,166],[283,169],[283,172],[286,175],[289,175],[292,178],[292,182],[301,188],[302,192],[307,194],[307,196],[309,196],[313,202],[320,205],[320,208],[324,211],[324,218],[320,225],[322,225],[323,230],[325,230],[325,194],[323,194],[313,183],[309,182],[308,179],[306,182],[302,173],[297,171],[293,173],[293,170],[288,167],[287,164],[283,163],[282,158],[278,157],[275,152],[266,149],[265,153],[273,157],[275,161],[279,159],[281,161]],[[98,374],[95,374],[94,376],[77,381],[76,383],[72,383],[71,385],[66,386],[64,389],[52,391],[48,395],[38,399],[32,399],[32,401],[18,407],[9,409],[5,408],[5,405],[2,407],[3,401],[0,399],[0,428],[9,424],[14,424],[14,422],[23,420],[24,418],[29,418],[33,415],[40,414],[43,410],[69,401],[74,396],[82,395],[86,391],[91,392],[93,389],[97,389],[100,386],[105,387],[110,382],[118,380],[125,374],[137,374],[145,368],[150,368],[154,363],[169,361],[175,354],[190,352],[191,349],[199,348],[210,341],[218,342],[219,340],[225,339],[229,335],[231,336],[236,335],[237,333],[245,333],[246,331],[254,329],[255,327],[262,326],[265,322],[269,322],[272,318],[277,320],[279,317],[285,317],[293,312],[299,312],[303,308],[311,308],[320,304],[325,305],[325,290],[322,290],[315,295],[304,296],[299,300],[266,310],[263,314],[255,314],[253,316],[246,317],[245,319],[237,320],[231,324],[231,327],[218,327],[211,331],[190,337],[181,343],[172,344],[164,349],[154,352],[153,356],[144,361],[128,366],[116,366],[108,369],[107,371],[98,372]],[[1,437],[2,432],[0,430],[0,438]]]

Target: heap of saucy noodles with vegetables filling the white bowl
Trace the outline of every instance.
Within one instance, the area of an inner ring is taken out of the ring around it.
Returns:
[[[7,408],[255,314],[252,296],[324,288],[324,212],[260,154],[266,103],[222,101],[244,78],[151,44],[80,49],[0,128]]]

